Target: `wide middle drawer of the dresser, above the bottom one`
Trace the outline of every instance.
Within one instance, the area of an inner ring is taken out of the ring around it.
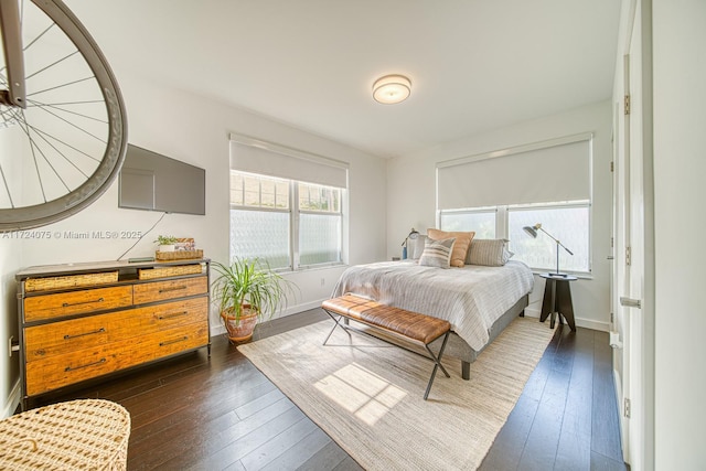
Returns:
[[[207,322],[206,297],[34,325],[24,331],[25,362]]]

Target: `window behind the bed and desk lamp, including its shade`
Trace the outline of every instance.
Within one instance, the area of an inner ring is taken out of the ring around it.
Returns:
[[[513,259],[556,270],[557,245],[525,226],[541,223],[559,247],[563,271],[588,274],[592,133],[581,133],[437,162],[437,211],[443,231],[510,239]]]

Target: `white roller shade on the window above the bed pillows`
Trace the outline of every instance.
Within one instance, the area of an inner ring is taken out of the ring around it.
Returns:
[[[437,163],[439,210],[590,200],[591,135]]]

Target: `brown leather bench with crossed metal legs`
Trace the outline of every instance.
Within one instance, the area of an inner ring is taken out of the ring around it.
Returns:
[[[429,396],[429,390],[431,390],[431,384],[434,383],[438,368],[441,368],[443,374],[447,377],[450,377],[443,365],[441,365],[441,356],[443,355],[443,350],[446,349],[446,343],[449,340],[449,333],[451,332],[451,324],[448,321],[417,312],[410,312],[392,306],[381,304],[376,301],[355,295],[344,295],[339,298],[328,299],[323,301],[321,307],[331,317],[331,319],[335,321],[335,325],[333,325],[333,329],[331,329],[331,332],[329,332],[329,335],[323,341],[324,345],[336,327],[370,334],[368,332],[347,323],[347,320],[353,320],[370,328],[379,330],[393,338],[399,338],[426,349],[429,356],[421,355],[414,350],[409,350],[403,345],[394,343],[400,349],[419,354],[435,363],[431,377],[427,385],[427,390],[424,395],[425,399]],[[346,322],[342,323],[342,320],[345,320]],[[439,349],[438,355],[435,355],[431,349],[429,349],[429,344],[442,335],[443,341],[441,349]]]

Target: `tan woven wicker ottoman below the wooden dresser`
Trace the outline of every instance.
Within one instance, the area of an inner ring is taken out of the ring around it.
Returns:
[[[130,414],[79,399],[0,420],[2,470],[127,470]]]

